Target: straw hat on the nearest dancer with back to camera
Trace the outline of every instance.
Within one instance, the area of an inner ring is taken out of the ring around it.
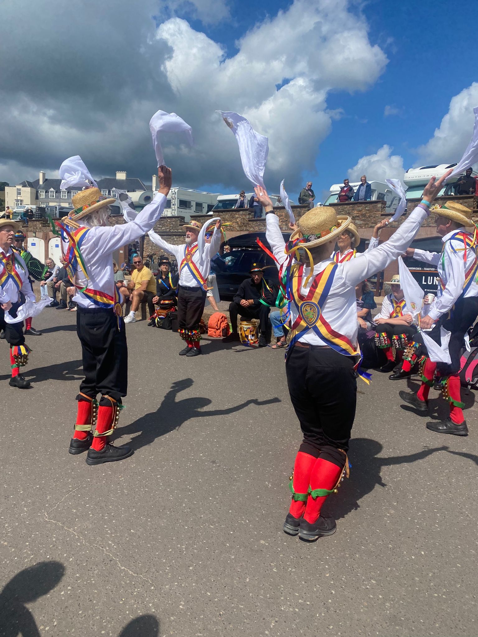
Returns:
[[[316,206],[300,217],[298,229],[291,234],[291,241],[305,240],[303,247],[315,248],[334,240],[352,223],[350,217],[337,217],[332,206]]]

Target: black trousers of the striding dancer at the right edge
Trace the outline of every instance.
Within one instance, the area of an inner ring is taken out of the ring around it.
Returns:
[[[437,370],[442,376],[458,374],[460,371],[461,348],[465,345],[465,334],[474,324],[478,317],[478,297],[472,296],[468,298],[460,297],[453,306],[453,310],[449,315],[444,315],[435,323],[435,327],[428,336],[432,338],[438,345],[442,344],[440,338],[440,327],[451,332],[450,341],[448,343],[448,351],[451,358],[451,365],[439,362]],[[417,334],[417,343],[422,343],[421,335]],[[424,347],[424,346],[423,346]]]

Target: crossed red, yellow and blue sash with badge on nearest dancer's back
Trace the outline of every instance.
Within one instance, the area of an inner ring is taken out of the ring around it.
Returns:
[[[360,351],[352,345],[347,336],[335,331],[322,315],[322,306],[330,292],[337,271],[337,264],[330,263],[321,273],[315,276],[310,290],[305,297],[300,291],[303,268],[303,263],[293,266],[296,272],[291,276],[291,285],[289,286],[291,301],[293,301],[298,310],[298,317],[292,326],[293,336],[289,347],[294,345],[302,334],[312,329],[317,336],[326,341],[326,343],[339,354],[344,354],[345,356],[360,355]]]

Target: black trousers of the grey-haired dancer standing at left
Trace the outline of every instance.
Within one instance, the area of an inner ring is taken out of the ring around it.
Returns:
[[[82,344],[85,374],[80,392],[91,398],[104,394],[120,401],[122,396],[126,396],[128,383],[124,320],[119,319],[113,310],[86,309],[78,305],[76,333]]]

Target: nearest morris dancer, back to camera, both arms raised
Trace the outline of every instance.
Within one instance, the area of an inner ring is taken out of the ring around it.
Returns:
[[[428,202],[449,172],[436,184],[435,178],[430,180],[424,190],[427,201],[412,211],[388,241],[361,259],[342,264],[336,264],[330,254],[337,237],[351,224],[350,217],[338,220],[331,206],[313,208],[300,218],[286,246],[270,198],[256,187],[266,210],[266,237],[278,261],[279,280],[285,273],[291,302],[286,373],[303,442],[290,483],[293,497],[284,523],[288,534],[312,541],[335,533],[335,520],[320,513],[326,497],[349,472],[347,451],[357,391],[354,369],[359,360],[355,286],[402,254],[428,217]],[[308,266],[293,261],[297,250],[305,250]]]

